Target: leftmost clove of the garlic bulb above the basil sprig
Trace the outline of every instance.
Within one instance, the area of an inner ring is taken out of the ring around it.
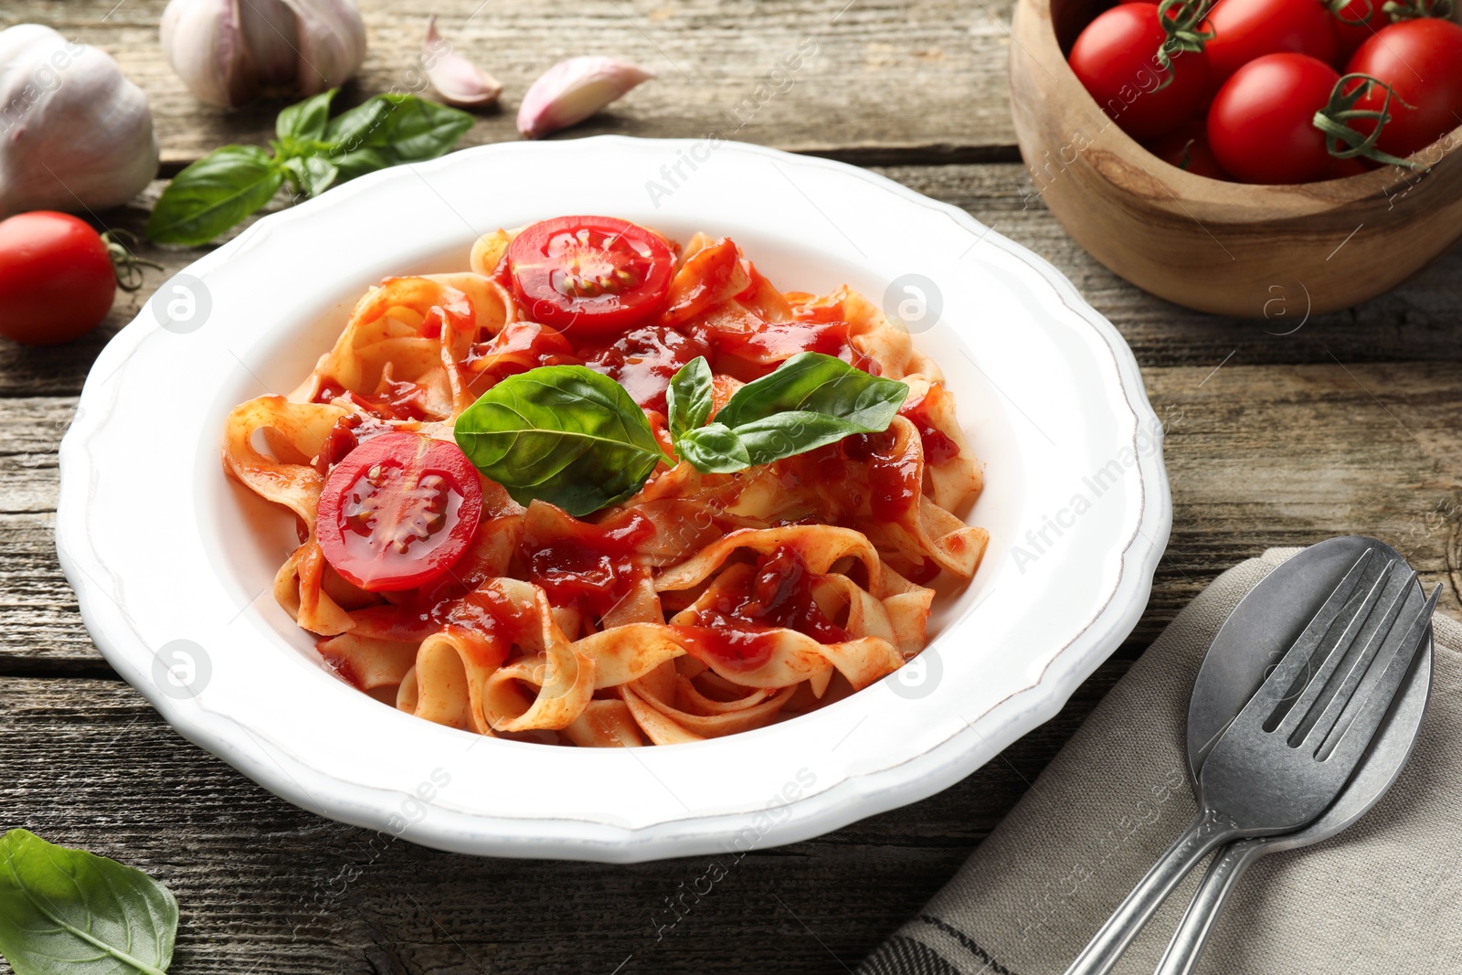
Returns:
[[[162,12],[162,53],[211,105],[234,108],[259,94],[237,0],[171,0]]]

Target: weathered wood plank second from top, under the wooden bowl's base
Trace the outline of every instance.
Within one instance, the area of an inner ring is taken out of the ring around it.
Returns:
[[[1121,330],[1145,368],[1213,368],[1230,354],[1230,365],[1462,358],[1462,341],[1456,332],[1456,322],[1462,317],[1462,249],[1444,254],[1387,295],[1349,311],[1316,316],[1292,335],[1275,335],[1295,327],[1298,306],[1289,308],[1288,317],[1272,322],[1222,319],[1180,308],[1117,278],[1067,237],[1042,206],[1020,165],[927,165],[876,171],[966,209],[1050,260]],[[102,219],[110,227],[140,231],[146,221],[145,206],[156,197],[161,186],[154,184],[139,197],[137,206],[104,213]],[[158,284],[203,253],[203,249],[142,244],[139,254],[165,265],[167,272],[148,272],[148,285],[140,292],[120,295],[111,316],[92,335],[45,349],[0,341],[0,396],[79,392],[105,341],[143,308]],[[1287,294],[1294,294],[1292,285]],[[1278,313],[1281,306],[1275,310]]]

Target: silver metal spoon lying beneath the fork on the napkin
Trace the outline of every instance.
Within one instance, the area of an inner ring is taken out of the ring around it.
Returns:
[[[1194,778],[1218,741],[1265,675],[1300,633],[1345,570],[1367,548],[1382,557],[1401,554],[1373,538],[1332,538],[1311,545],[1269,573],[1244,596],[1219,629],[1199,668],[1189,705],[1189,767]],[[1415,583],[1414,583],[1415,585]],[[1295,833],[1254,836],[1219,849],[1187,914],[1183,917],[1158,975],[1189,975],[1197,963],[1213,921],[1238,877],[1266,854],[1297,849],[1335,836],[1358,820],[1386,794],[1411,756],[1431,690],[1431,634],[1417,652],[1411,674],[1396,694],[1390,715],[1376,731],[1370,751],[1335,803]]]

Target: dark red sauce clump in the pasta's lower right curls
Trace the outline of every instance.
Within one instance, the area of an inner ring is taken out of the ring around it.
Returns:
[[[781,545],[759,560],[741,586],[719,591],[693,623],[675,630],[696,656],[732,671],[751,671],[770,659],[772,630],[797,630],[819,643],[852,639],[817,605],[813,586],[819,580],[795,548]]]

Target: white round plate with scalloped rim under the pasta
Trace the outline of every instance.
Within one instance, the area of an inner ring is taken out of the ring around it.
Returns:
[[[904,275],[934,282],[939,320],[911,330],[985,462],[969,520],[993,542],[920,661],[785,724],[633,750],[443,728],[322,668],[269,592],[292,519],[225,478],[224,417],[294,387],[380,278],[463,269],[484,231],[580,212],[730,235],[787,289],[846,282],[898,304],[912,292],[885,294]],[[443,849],[629,862],[806,839],[969,775],[1132,630],[1171,507],[1132,351],[1031,251],[849,165],[596,137],[364,177],[164,285],[86,380],[61,444],[56,539],[111,665],[183,735],[291,803]]]

